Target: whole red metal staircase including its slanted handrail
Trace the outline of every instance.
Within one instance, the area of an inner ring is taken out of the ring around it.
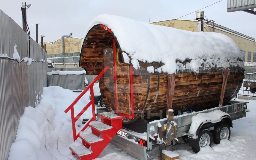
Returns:
[[[105,112],[99,113],[101,121],[96,121],[95,104],[93,84],[108,70],[108,66],[93,80],[93,82],[78,96],[76,100],[65,111],[68,113],[71,110],[71,120],[73,129],[74,142],[70,145],[73,154],[80,159],[94,159],[97,158],[112,138],[116,135],[118,130],[123,128],[122,116]],[[84,109],[75,117],[74,105],[80,98],[91,89],[91,101],[84,107]],[[81,131],[77,134],[75,123],[82,116],[82,114],[92,105],[92,117],[87,121]],[[92,132],[84,131],[87,127],[91,127]],[[77,140],[80,138],[82,143]]]

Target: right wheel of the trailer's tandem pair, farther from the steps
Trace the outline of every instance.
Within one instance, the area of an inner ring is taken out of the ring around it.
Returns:
[[[226,122],[221,122],[218,123],[214,127],[214,132],[213,132],[213,141],[215,144],[219,144],[222,139],[227,139],[229,140],[230,138],[230,126]]]

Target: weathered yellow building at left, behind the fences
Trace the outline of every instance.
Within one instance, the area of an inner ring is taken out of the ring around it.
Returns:
[[[65,52],[63,52],[62,38],[58,39],[55,42],[44,42],[44,45],[46,45],[48,58],[79,56],[81,51],[82,39],[83,38],[65,37]],[[39,44],[41,45],[41,43]]]

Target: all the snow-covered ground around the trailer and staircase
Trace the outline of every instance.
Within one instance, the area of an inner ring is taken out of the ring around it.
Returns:
[[[73,142],[71,116],[70,112],[64,112],[78,94],[58,86],[44,87],[40,104],[35,108],[26,107],[24,115],[20,118],[9,159],[78,159],[69,149]],[[247,113],[245,118],[233,121],[230,141],[222,140],[218,145],[213,143],[212,147],[205,147],[197,154],[188,144],[172,146],[171,149],[180,155],[180,159],[256,159],[256,101],[248,101],[251,113]],[[75,113],[80,112],[88,102],[89,92],[75,105]],[[90,116],[89,109],[82,118],[88,119]],[[157,159],[158,150],[158,146],[154,146],[148,154]],[[137,159],[111,144],[97,159],[121,158]]]

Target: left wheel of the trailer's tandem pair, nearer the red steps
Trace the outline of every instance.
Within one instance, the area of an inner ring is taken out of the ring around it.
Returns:
[[[204,129],[199,132],[198,138],[191,142],[191,147],[195,153],[199,152],[202,147],[206,145],[211,146],[212,135],[209,129]]]

